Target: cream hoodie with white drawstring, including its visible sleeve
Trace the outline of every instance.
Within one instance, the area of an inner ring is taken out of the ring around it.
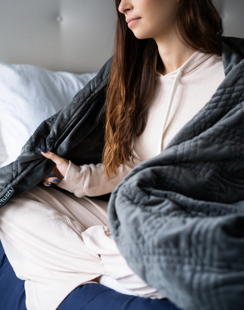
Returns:
[[[105,177],[103,165],[75,166],[70,162],[65,178],[59,184],[77,197],[111,193],[125,175],[141,161],[155,157],[177,132],[210,100],[224,80],[222,57],[196,51],[179,69],[166,75],[157,74],[156,90],[147,112],[146,127],[134,138],[125,170]]]

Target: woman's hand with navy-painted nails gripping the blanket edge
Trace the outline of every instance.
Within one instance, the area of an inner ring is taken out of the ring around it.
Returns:
[[[65,177],[66,171],[69,166],[69,161],[65,158],[59,157],[52,152],[48,152],[43,148],[39,148],[39,151],[42,153],[43,156],[51,159],[56,164],[53,167],[51,173],[43,180],[43,184],[45,186],[50,186],[52,183],[59,184]]]

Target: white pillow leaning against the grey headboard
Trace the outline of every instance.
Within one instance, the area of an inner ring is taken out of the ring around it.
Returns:
[[[38,125],[58,112],[96,73],[50,71],[0,62],[0,132],[13,162]]]

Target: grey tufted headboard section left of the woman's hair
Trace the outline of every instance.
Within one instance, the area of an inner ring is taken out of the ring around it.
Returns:
[[[113,0],[2,0],[0,61],[96,72],[112,53]]]

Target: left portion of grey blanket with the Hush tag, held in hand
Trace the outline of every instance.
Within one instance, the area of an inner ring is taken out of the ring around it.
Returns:
[[[78,166],[101,162],[105,89],[111,60],[112,57],[66,107],[38,126],[14,162],[0,168],[0,207],[37,185],[52,170],[54,162],[43,157],[38,148]]]

